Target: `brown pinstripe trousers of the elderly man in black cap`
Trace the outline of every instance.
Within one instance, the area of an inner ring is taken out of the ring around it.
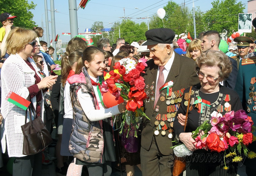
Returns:
[[[149,150],[141,147],[140,163],[142,176],[171,176],[174,155],[163,155],[153,137]]]

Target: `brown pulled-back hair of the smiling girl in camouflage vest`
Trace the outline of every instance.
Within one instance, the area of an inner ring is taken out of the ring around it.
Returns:
[[[104,55],[103,50],[100,48],[97,48],[94,46],[85,48],[82,58],[77,61],[75,72],[80,71],[80,73],[81,73],[82,68],[85,66],[84,61],[87,61],[89,63],[92,62],[94,60],[94,56],[97,55],[98,53],[102,53]]]

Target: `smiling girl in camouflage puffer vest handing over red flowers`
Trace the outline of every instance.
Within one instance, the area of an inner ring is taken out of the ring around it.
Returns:
[[[109,117],[123,113],[126,102],[105,109],[100,92],[105,67],[103,51],[88,47],[77,62],[77,68],[82,72],[68,78],[73,106],[69,152],[76,164],[69,166],[67,176],[81,175],[83,165],[86,165],[90,176],[109,176],[111,162],[116,161]]]

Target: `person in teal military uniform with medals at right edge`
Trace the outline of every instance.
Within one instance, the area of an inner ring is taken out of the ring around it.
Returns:
[[[256,27],[256,25],[254,26]],[[240,60],[238,75],[236,79],[235,91],[238,93],[242,102],[243,109],[246,113],[252,117],[254,126],[256,124],[256,57],[249,57]],[[254,135],[256,133],[254,132]],[[250,150],[256,152],[256,142],[248,147]],[[246,174],[252,176],[256,173],[256,158],[244,159],[244,165],[246,165]]]

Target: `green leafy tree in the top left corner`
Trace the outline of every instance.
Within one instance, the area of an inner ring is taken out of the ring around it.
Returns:
[[[1,0],[0,7],[0,13],[8,12],[13,16],[17,16],[14,19],[14,26],[28,29],[36,26],[36,22],[32,20],[34,15],[30,11],[36,7],[36,4],[33,2],[29,4],[26,0]]]

